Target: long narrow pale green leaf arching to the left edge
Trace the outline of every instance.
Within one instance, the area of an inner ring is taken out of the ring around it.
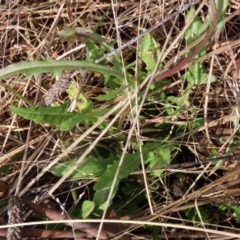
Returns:
[[[19,73],[39,74],[42,72],[51,72],[59,75],[63,70],[91,70],[120,78],[124,77],[121,71],[117,71],[113,67],[95,64],[90,61],[54,60],[47,58],[42,61],[20,62],[2,68],[0,70],[0,80]]]

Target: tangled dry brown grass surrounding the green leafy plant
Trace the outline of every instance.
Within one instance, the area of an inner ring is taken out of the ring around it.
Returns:
[[[164,2],[121,1],[113,3],[83,0],[46,3],[45,1],[23,0],[5,3],[1,5],[0,16],[1,67],[25,60],[41,60],[48,56],[54,59],[85,59],[84,39],[77,38],[62,42],[57,37],[57,33],[65,26],[92,29],[97,26],[97,33],[109,42],[117,39],[118,46],[121,46],[139,35],[144,29],[148,29],[178,10],[179,2],[186,4],[190,1],[176,0],[169,4],[164,4]],[[204,0],[196,6],[201,19],[204,19],[208,11],[208,3],[209,1]],[[78,126],[71,132],[61,133],[58,129],[24,120],[14,115],[9,106],[15,104],[27,107],[26,103],[13,92],[0,87],[2,216],[6,216],[7,200],[13,196],[35,200],[39,204],[50,199],[53,211],[60,208],[61,204],[56,202],[58,199],[62,204],[65,203],[64,211],[66,216],[69,216],[70,210],[74,209],[75,205],[86,199],[92,200],[93,183],[96,179],[72,181],[68,178],[71,172],[59,178],[49,171],[52,166],[67,159],[76,159],[76,162],[81,162],[98,144],[104,145],[110,151],[121,151],[121,163],[125,154],[133,153],[134,144],[137,144],[141,150],[142,144],[152,142],[160,144],[163,140],[165,141],[164,138],[168,137],[167,143],[174,144],[175,149],[178,148],[178,150],[173,149],[172,159],[180,165],[177,169],[176,166],[170,165],[159,177],[154,178],[149,175],[149,172],[153,170],[145,169],[144,159],[141,159],[142,165],[126,182],[140,183],[139,186],[142,189],[137,189],[129,201],[141,196],[142,204],[138,206],[136,212],[119,216],[122,217],[122,222],[126,220],[129,227],[119,231],[131,232],[132,239],[140,239],[140,237],[151,239],[153,237],[151,227],[155,226],[157,230],[158,226],[162,227],[157,232],[161,239],[237,239],[239,220],[235,213],[231,210],[220,211],[218,206],[223,203],[238,206],[240,202],[238,180],[240,176],[238,150],[239,12],[240,4],[234,0],[230,1],[225,29],[218,42],[214,41],[213,34],[207,54],[197,60],[189,60],[175,72],[171,72],[171,69],[185,58],[190,47],[191,49],[193,47],[186,46],[183,40],[186,30],[184,28],[185,13],[151,32],[161,46],[163,70],[170,69],[170,74],[167,76],[170,84],[167,86],[150,91],[149,79],[152,77],[153,82],[157,82],[156,79],[161,77],[159,75],[161,73],[153,72],[142,83],[136,81],[135,91],[128,92],[126,98],[119,97],[103,105],[94,100],[95,96],[103,94],[103,88],[107,88],[106,85],[99,84],[97,74],[87,72],[83,80],[78,76],[74,77],[73,81],[81,86],[85,95],[95,101],[96,108],[111,109],[89,128]],[[198,44],[199,42],[193,43],[194,46]],[[124,65],[135,61],[138,48],[139,42],[120,52]],[[209,75],[215,75],[217,81],[211,83],[209,80],[206,84],[195,85],[186,90],[186,82],[181,76],[188,66],[197,61],[204,62],[204,71]],[[109,65],[112,65],[111,59]],[[143,66],[138,67],[143,68]],[[134,72],[133,69],[131,71]],[[125,81],[127,82],[127,75]],[[55,78],[52,74],[43,73],[38,76],[17,75],[4,79],[3,82],[37,105],[54,84]],[[181,98],[186,91],[189,91],[187,105],[172,117],[166,115],[166,103],[152,98],[160,93]],[[145,96],[145,99],[142,98],[142,106],[139,103],[134,104],[139,96]],[[68,95],[62,94],[58,101],[65,102],[67,99]],[[153,111],[149,111],[149,108]],[[192,108],[195,112],[191,111]],[[114,115],[115,110],[118,113]],[[140,118],[136,112],[141,112],[141,116],[144,117]],[[192,129],[189,122],[196,118],[203,118],[204,124]],[[104,121],[108,123],[107,127],[100,130],[98,126]],[[177,129],[186,125],[188,127],[185,128],[184,133],[178,135]],[[109,134],[108,128],[113,135]],[[218,167],[214,167],[211,163],[190,168],[182,164],[223,155],[233,155],[235,158],[227,158],[227,161],[220,162]],[[179,178],[181,174],[186,176],[184,181]],[[70,191],[72,189],[75,189],[79,195],[85,194],[78,199],[77,203],[74,203],[72,199]],[[119,197],[116,198],[117,201]],[[208,214],[208,218],[204,220],[200,217],[200,224],[194,225],[184,215],[184,210],[194,208],[198,216],[201,216],[199,210],[201,207]],[[119,206],[119,209],[114,209],[114,211],[121,212],[121,208],[124,209],[124,206]],[[37,225],[34,223],[34,216],[29,216],[29,214],[26,222]],[[106,212],[100,217],[101,223],[109,218]],[[40,217],[37,220],[40,220]],[[130,224],[127,220],[131,220]],[[1,225],[6,224],[5,218],[1,221]],[[143,224],[149,226],[148,230],[142,228]],[[109,238],[113,239],[113,236]],[[84,239],[92,239],[92,237],[85,236]],[[128,238],[125,235],[121,239]]]

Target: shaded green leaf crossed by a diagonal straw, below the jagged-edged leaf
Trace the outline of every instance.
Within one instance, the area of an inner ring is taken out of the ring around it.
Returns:
[[[71,179],[81,179],[99,176],[106,170],[107,164],[112,163],[111,158],[112,156],[107,159],[98,159],[93,156],[88,156],[78,166],[76,166],[76,169],[73,171],[70,177]],[[59,163],[51,168],[51,172],[55,176],[62,177],[75,164],[75,162],[75,160],[70,160]]]

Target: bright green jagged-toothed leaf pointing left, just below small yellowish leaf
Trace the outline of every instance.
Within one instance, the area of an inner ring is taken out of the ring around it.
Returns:
[[[34,107],[20,108],[11,106],[11,110],[19,116],[33,120],[35,123],[47,123],[50,126],[57,126],[61,131],[69,131],[79,123],[86,121],[96,121],[99,117],[107,112],[107,109],[101,109],[95,112],[75,113],[67,112],[67,102],[57,107]]]

